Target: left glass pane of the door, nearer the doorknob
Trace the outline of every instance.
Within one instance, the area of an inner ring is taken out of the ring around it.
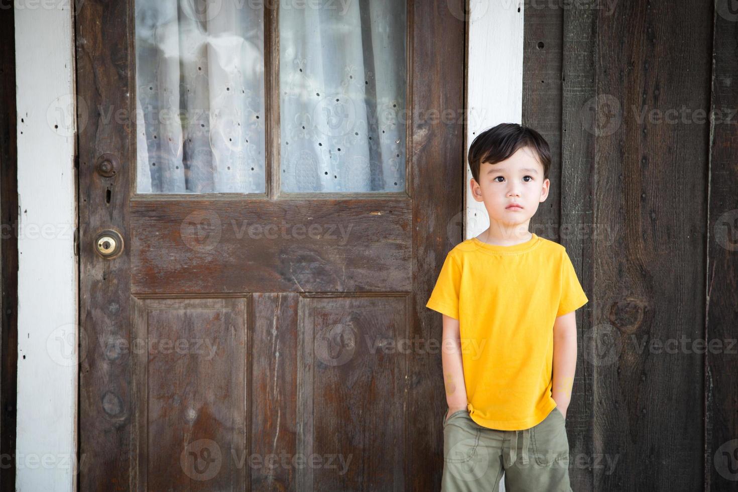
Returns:
[[[135,1],[137,193],[264,193],[262,4]]]

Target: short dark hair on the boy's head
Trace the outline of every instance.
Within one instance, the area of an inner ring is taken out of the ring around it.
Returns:
[[[538,160],[543,164],[543,179],[548,178],[551,149],[546,139],[525,125],[500,123],[477,135],[469,147],[469,167],[472,168],[475,181],[479,182],[479,169],[483,162],[489,164],[502,162],[523,147],[531,148],[538,156]]]

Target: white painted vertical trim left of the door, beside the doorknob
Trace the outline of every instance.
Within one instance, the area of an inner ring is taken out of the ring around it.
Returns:
[[[71,3],[15,3],[19,204],[15,490],[23,492],[76,490],[77,185]]]

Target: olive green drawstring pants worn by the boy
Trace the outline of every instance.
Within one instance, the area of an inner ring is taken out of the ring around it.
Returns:
[[[521,431],[480,426],[466,409],[444,415],[441,491],[497,491],[503,471],[506,492],[571,492],[569,443],[559,409]]]

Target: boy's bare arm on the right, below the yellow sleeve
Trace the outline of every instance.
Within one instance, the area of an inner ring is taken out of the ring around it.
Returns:
[[[571,401],[571,388],[576,371],[576,311],[556,318],[554,322],[554,384],[551,398],[566,417]]]

